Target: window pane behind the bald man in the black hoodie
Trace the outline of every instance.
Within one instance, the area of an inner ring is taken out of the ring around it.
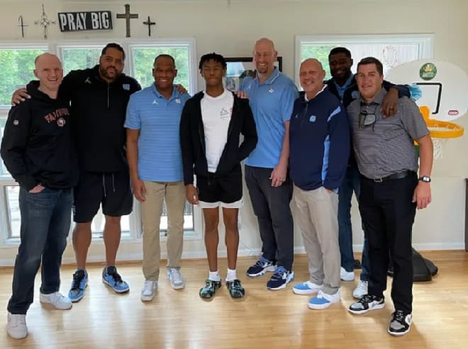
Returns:
[[[0,49],[0,105],[10,106],[13,91],[35,79],[34,59],[46,51],[45,48]]]

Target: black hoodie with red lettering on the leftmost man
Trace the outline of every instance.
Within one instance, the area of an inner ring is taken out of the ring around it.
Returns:
[[[26,86],[31,96],[11,108],[1,141],[1,158],[11,176],[26,190],[72,188],[78,182],[78,162],[68,101],[52,99]]]

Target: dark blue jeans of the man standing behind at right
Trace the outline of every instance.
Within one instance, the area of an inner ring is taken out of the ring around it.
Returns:
[[[348,166],[345,178],[338,190],[338,237],[340,242],[341,266],[346,271],[355,270],[355,256],[352,253],[352,226],[351,226],[351,199],[352,193],[356,194],[357,202],[361,191],[361,178],[357,166]],[[364,246],[362,246],[362,270],[361,280],[369,281],[369,253],[367,239],[364,236]]]

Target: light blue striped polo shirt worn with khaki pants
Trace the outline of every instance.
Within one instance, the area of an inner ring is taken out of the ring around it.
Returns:
[[[176,88],[167,100],[155,84],[133,93],[127,106],[125,127],[140,130],[138,176],[143,181],[182,181],[179,124],[182,108],[190,98]]]

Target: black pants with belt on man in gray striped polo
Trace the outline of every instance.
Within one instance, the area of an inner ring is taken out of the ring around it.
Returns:
[[[417,184],[416,173],[381,183],[364,177],[361,181],[359,206],[371,267],[369,294],[381,297],[386,290],[390,250],[394,258],[391,299],[395,309],[405,313],[411,313],[413,303],[411,230],[416,202],[411,200]]]

